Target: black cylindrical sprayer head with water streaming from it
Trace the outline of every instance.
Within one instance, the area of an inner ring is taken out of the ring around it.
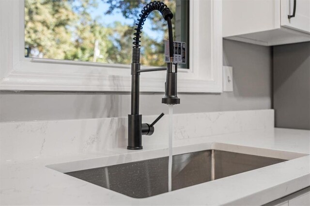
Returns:
[[[179,104],[180,99],[177,96],[177,64],[167,63],[167,76],[165,83],[165,96],[161,103]]]

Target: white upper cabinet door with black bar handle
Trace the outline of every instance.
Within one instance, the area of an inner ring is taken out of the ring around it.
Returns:
[[[310,33],[310,0],[281,0],[281,26]]]

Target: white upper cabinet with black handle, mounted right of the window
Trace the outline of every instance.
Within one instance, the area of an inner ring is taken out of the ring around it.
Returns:
[[[310,0],[223,0],[223,37],[265,46],[308,42]]]

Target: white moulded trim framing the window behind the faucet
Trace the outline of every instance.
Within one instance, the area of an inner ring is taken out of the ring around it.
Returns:
[[[178,70],[178,92],[222,92],[222,2],[211,1],[211,28],[206,2],[190,1],[190,68]],[[0,4],[0,90],[131,90],[129,65],[25,58],[24,1]],[[203,41],[210,35],[211,47]],[[163,92],[164,82],[165,72],[141,74],[140,91]]]

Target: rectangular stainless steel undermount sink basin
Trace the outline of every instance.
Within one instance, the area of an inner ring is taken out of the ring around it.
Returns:
[[[173,156],[172,190],[284,162],[248,154],[205,150]],[[65,173],[130,197],[168,191],[168,157]]]

